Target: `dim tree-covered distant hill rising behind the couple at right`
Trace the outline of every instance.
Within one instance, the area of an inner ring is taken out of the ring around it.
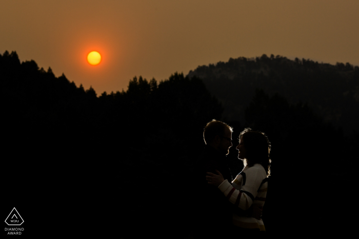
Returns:
[[[201,66],[188,76],[201,78],[224,106],[223,117],[242,125],[255,89],[262,89],[269,96],[280,94],[291,104],[307,102],[325,122],[343,127],[345,134],[359,132],[359,67],[350,63],[333,66],[263,55]]]

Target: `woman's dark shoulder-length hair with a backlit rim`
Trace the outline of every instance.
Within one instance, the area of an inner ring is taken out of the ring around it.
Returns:
[[[243,144],[246,149],[246,158],[244,159],[244,166],[248,163],[254,165],[255,163],[262,164],[267,171],[267,177],[270,176],[270,150],[271,144],[266,134],[260,131],[252,131],[251,128],[245,128],[241,132],[239,140],[243,137]]]

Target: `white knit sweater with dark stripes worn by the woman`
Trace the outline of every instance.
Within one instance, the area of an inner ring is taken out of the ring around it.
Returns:
[[[218,188],[226,195],[227,199],[243,210],[247,210],[252,204],[263,207],[267,195],[267,173],[261,164],[248,165],[233,180],[232,184],[225,180]],[[238,216],[233,213],[233,224],[242,228],[259,228],[265,231],[262,219]]]

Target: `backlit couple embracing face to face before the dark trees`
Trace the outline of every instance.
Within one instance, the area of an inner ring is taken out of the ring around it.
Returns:
[[[264,133],[245,128],[236,147],[245,167],[233,179],[226,160],[232,132],[229,125],[217,120],[204,129],[206,145],[196,167],[198,220],[194,238],[235,238],[265,232],[261,218],[270,175],[271,145]]]

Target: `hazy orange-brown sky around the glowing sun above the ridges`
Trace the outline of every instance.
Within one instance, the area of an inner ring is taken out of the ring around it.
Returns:
[[[359,66],[356,0],[26,0],[0,2],[0,54],[76,86],[127,90],[229,58],[267,54]],[[98,51],[97,66],[87,54]]]

